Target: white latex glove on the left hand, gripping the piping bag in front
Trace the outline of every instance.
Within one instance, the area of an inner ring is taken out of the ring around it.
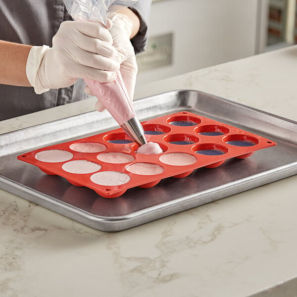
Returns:
[[[120,63],[114,59],[108,29],[98,23],[62,22],[52,39],[52,48],[33,47],[27,59],[26,74],[36,94],[73,85],[77,78],[110,82]]]

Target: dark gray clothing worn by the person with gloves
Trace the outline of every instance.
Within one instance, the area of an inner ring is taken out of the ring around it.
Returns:
[[[139,0],[130,8],[141,20],[140,32],[131,40],[136,53],[148,39],[151,0]],[[72,20],[63,0],[0,0],[0,40],[51,47],[52,37],[62,21]],[[0,84],[0,121],[88,98],[85,83],[36,95],[33,88]]]

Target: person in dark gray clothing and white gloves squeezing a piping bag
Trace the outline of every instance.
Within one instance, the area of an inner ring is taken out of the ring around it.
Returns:
[[[0,120],[86,99],[82,79],[115,79],[134,93],[135,53],[146,48],[151,0],[106,26],[73,21],[63,0],[0,0]]]

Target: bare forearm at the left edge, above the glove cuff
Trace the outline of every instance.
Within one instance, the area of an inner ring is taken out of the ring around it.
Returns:
[[[0,84],[31,87],[26,63],[32,46],[0,40]]]

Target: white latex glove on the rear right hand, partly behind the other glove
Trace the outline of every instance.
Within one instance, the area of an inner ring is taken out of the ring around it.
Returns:
[[[112,27],[109,32],[113,39],[112,45],[118,51],[114,59],[121,64],[120,72],[128,91],[128,97],[132,102],[138,71],[134,48],[130,42],[133,23],[129,17],[120,13],[113,13],[110,20],[112,21]],[[94,96],[88,86],[86,86],[85,92]],[[100,101],[96,103],[96,109],[99,111],[104,110]]]

